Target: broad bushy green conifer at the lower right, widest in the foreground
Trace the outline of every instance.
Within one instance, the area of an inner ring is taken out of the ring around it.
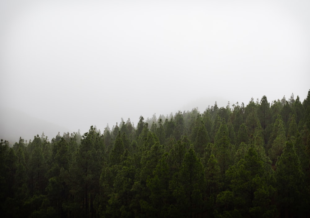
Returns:
[[[275,189],[268,185],[265,179],[268,176],[265,174],[263,161],[253,148],[249,148],[245,158],[227,171],[231,191],[224,191],[219,195],[219,200],[222,205],[227,205],[232,197],[234,201],[229,204],[233,205],[234,210],[228,208],[228,211],[223,211],[224,214],[239,214],[241,217],[275,216],[276,207],[271,205]]]

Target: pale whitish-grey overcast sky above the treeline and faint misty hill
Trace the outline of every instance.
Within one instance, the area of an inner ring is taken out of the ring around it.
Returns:
[[[308,0],[1,0],[1,107],[83,134],[216,100],[303,101],[309,11]]]

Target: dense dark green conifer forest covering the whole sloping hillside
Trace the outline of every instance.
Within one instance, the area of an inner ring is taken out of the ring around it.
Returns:
[[[310,91],[0,150],[2,217],[310,217]]]

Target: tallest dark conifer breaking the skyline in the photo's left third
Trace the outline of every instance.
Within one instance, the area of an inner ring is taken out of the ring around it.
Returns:
[[[70,208],[76,214],[84,217],[95,216],[94,199],[99,193],[99,178],[103,165],[104,139],[96,128],[91,126],[89,132],[82,137],[73,163],[70,166],[69,184],[71,192],[75,193],[74,208]],[[82,200],[84,199],[84,200]],[[82,200],[82,201],[81,201]],[[77,204],[82,203],[82,205]]]

